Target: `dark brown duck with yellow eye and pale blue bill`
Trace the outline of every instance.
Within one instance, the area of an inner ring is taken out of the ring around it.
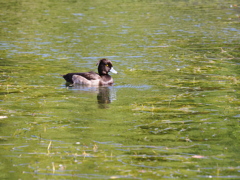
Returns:
[[[98,73],[94,71],[83,73],[68,73],[62,75],[67,83],[72,85],[80,84],[87,86],[104,86],[112,85],[113,78],[108,74],[109,72],[117,74],[117,71],[113,69],[112,62],[106,58],[100,59],[97,64]]]

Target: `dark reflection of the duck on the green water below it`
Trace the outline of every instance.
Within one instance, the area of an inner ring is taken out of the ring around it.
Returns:
[[[80,90],[85,92],[97,93],[97,102],[100,109],[109,108],[108,104],[116,100],[116,91],[113,86],[86,86],[86,85],[75,85],[72,87],[73,90]]]

